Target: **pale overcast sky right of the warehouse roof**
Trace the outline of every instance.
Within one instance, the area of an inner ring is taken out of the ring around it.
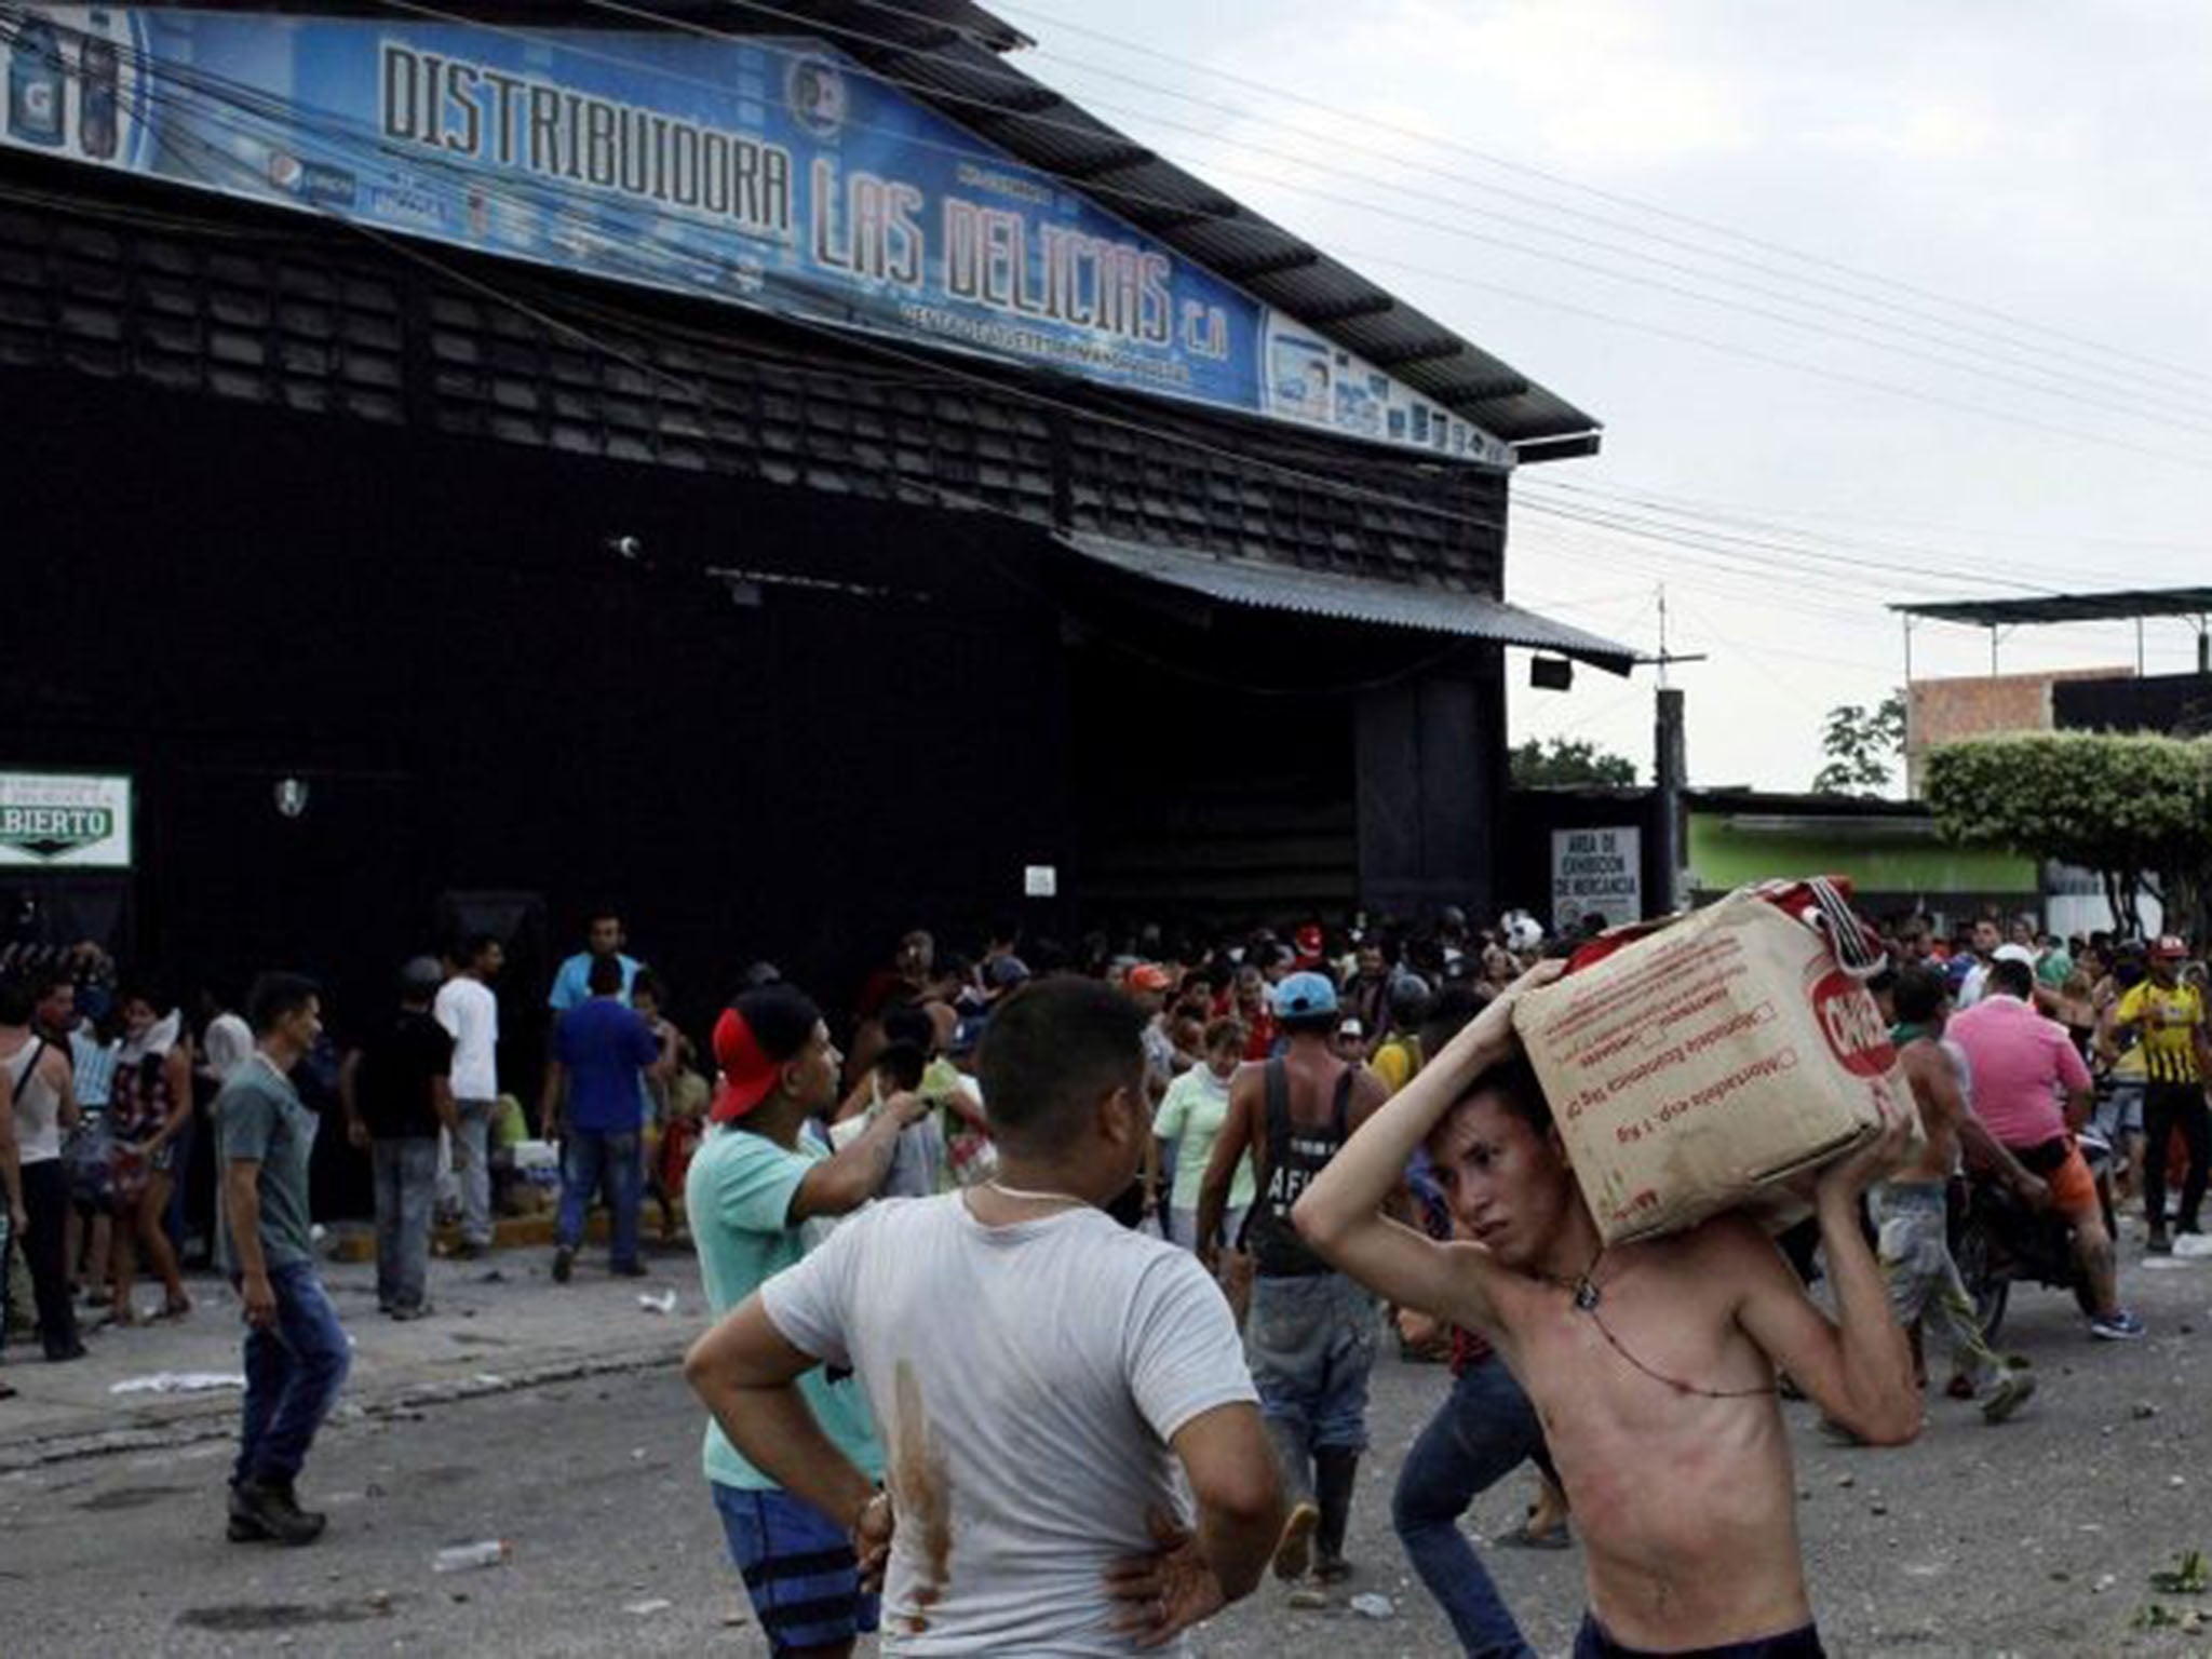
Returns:
[[[1506,588],[1652,648],[1666,582],[1712,653],[1677,670],[1694,783],[1803,787],[1823,712],[1902,684],[1893,599],[2212,584],[2212,7],[995,9],[1031,73],[1604,420],[1520,473]],[[2132,664],[2135,630],[2002,661]],[[2194,635],[2150,624],[2148,664]],[[1989,637],[1922,626],[1913,670],[1986,672]],[[1648,776],[1648,670],[1513,675],[1515,739]]]

